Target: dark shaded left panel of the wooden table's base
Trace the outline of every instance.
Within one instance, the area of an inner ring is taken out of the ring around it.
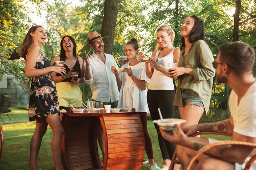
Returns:
[[[97,148],[98,117],[66,117],[63,115],[63,163],[67,170],[99,169]],[[96,135],[96,137],[95,137]]]

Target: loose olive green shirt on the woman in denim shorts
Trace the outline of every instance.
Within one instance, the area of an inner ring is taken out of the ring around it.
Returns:
[[[182,62],[183,61],[183,62]],[[178,86],[173,104],[184,107],[182,102],[181,89],[200,97],[204,104],[205,112],[209,110],[211,90],[215,69],[212,66],[214,61],[209,46],[203,40],[192,43],[189,53],[184,58],[184,48],[181,50],[179,66],[193,68],[193,75],[184,74],[178,78]]]

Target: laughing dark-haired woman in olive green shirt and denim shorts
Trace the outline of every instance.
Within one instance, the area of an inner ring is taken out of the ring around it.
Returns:
[[[209,46],[205,42],[204,24],[196,15],[190,15],[180,27],[182,46],[179,67],[171,68],[170,77],[178,77],[173,104],[179,106],[180,117],[186,123],[198,124],[209,110],[215,69]]]

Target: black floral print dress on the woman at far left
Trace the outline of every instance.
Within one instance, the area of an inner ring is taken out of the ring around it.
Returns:
[[[50,61],[40,55],[37,57],[35,69],[49,67]],[[55,83],[50,73],[32,78],[29,96],[29,121],[59,114],[58,96]]]

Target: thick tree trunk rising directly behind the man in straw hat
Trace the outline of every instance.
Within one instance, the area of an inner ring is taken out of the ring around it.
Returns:
[[[101,26],[101,36],[106,36],[103,39],[104,52],[108,54],[113,53],[113,44],[115,37],[115,27],[117,21],[117,3],[118,0],[105,0],[104,3],[104,17]]]

